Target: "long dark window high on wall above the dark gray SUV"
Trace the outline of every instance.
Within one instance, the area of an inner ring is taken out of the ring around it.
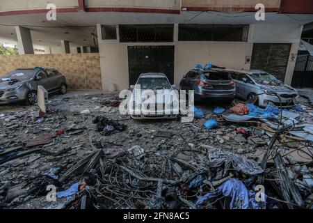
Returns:
[[[248,40],[247,25],[179,24],[179,41],[242,41]]]

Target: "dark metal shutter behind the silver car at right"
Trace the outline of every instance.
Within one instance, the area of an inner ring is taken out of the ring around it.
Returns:
[[[290,47],[290,43],[253,44],[251,70],[264,70],[284,81]]]

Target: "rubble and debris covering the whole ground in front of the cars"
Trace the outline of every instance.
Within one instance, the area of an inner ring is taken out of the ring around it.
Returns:
[[[196,105],[134,121],[114,94],[0,110],[0,208],[312,208],[312,114]],[[88,111],[88,112],[87,112]]]

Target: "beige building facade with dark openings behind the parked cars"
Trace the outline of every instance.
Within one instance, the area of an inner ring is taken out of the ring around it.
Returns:
[[[56,6],[55,21],[46,21],[47,3]],[[266,70],[291,84],[312,13],[310,0],[3,0],[0,39],[17,41],[21,54],[97,48],[104,91],[127,89],[143,72],[179,84],[196,63]]]

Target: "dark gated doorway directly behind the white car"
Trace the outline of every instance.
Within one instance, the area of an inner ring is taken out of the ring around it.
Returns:
[[[134,85],[142,73],[162,72],[174,83],[174,46],[128,47],[129,84]]]

